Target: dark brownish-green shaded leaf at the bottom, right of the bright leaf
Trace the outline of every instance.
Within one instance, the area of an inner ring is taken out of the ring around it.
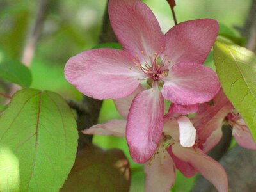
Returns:
[[[60,191],[129,191],[130,169],[124,153],[102,150],[92,144],[77,154],[76,162]]]

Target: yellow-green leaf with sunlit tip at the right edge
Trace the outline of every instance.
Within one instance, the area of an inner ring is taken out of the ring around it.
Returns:
[[[241,113],[256,140],[256,57],[252,51],[218,40],[214,61],[228,99]]]

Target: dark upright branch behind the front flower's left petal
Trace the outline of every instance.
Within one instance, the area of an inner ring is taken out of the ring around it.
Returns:
[[[104,12],[102,29],[99,36],[99,44],[106,42],[117,42],[115,33],[113,32],[109,21],[108,3]],[[77,127],[79,130],[78,150],[86,145],[86,143],[92,142],[92,136],[83,134],[81,130],[97,124],[100,108],[102,106],[102,100],[92,99],[90,97],[84,96],[80,105],[82,107],[79,108],[86,109],[86,111],[77,111]]]

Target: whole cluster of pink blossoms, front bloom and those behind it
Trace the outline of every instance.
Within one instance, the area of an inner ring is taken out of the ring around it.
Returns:
[[[216,73],[202,65],[218,35],[216,20],[182,22],[163,35],[140,0],[109,0],[109,18],[123,50],[84,51],[68,60],[65,77],[84,95],[114,99],[125,120],[84,133],[125,137],[132,159],[145,164],[146,191],[168,191],[176,168],[186,177],[200,172],[228,191],[225,170],[206,155],[220,141],[221,126],[232,125],[243,147],[256,145]],[[164,99],[172,102],[166,115]],[[212,99],[214,106],[207,103]]]

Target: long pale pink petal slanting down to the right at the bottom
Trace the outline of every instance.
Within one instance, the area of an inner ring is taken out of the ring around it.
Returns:
[[[186,148],[175,143],[172,152],[180,160],[191,164],[205,179],[209,180],[218,191],[228,191],[228,180],[220,163],[207,156],[199,148]]]

